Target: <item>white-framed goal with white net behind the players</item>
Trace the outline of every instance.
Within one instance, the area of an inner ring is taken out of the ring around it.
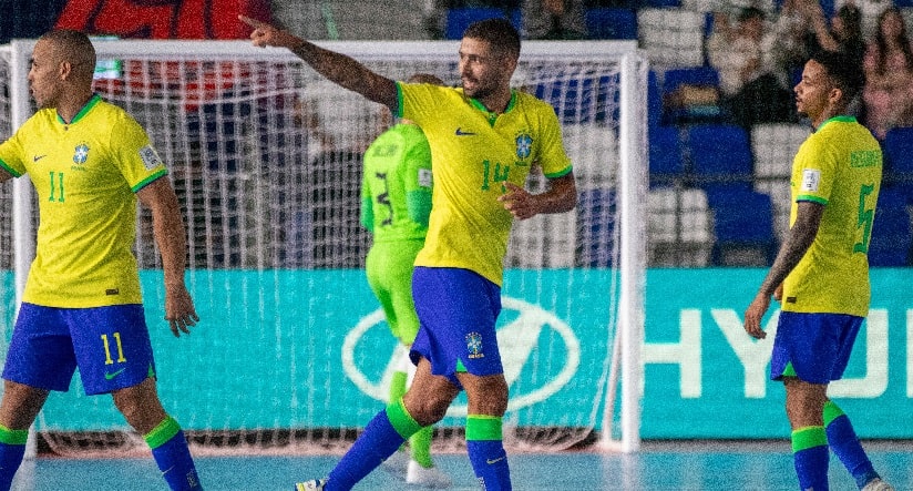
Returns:
[[[326,42],[379,73],[459,83],[459,44]],[[33,111],[33,43],[0,57],[0,132]],[[339,451],[383,407],[396,341],[365,279],[361,155],[391,124],[285,50],[247,42],[98,41],[96,91],[150,132],[170,165],[188,231],[187,282],[199,326],[162,321],[161,260],[143,211],[142,268],[160,395],[196,451]],[[527,42],[513,83],[552,103],[579,191],[577,208],[515,224],[499,341],[510,382],[505,444],[637,449],[646,191],[646,71],[634,42]],[[18,110],[17,110],[18,108]],[[16,180],[25,183],[27,180]],[[544,180],[530,178],[531,190]],[[33,248],[29,185],[0,187],[0,326]],[[8,216],[4,212],[4,216]],[[23,225],[24,224],[24,225]],[[9,254],[17,250],[17,254]],[[465,399],[437,427],[463,443]],[[53,393],[35,430],[61,454],[145,451],[110,398],[79,377]]]

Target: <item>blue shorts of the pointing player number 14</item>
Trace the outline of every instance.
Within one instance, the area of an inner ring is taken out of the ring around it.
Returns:
[[[417,267],[412,296],[419,334],[412,344],[431,362],[431,372],[462,388],[458,371],[475,376],[503,374],[495,321],[501,313],[501,288],[469,269]]]

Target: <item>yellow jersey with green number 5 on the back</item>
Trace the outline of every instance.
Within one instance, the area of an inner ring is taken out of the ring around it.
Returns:
[[[869,239],[881,188],[881,146],[854,117],[832,117],[792,165],[790,225],[799,202],[824,206],[809,250],[783,282],[782,309],[869,315]]]

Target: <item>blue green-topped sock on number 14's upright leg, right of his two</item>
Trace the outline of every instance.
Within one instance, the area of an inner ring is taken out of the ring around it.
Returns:
[[[485,491],[511,490],[511,469],[502,438],[501,418],[483,415],[466,418],[469,460]]]

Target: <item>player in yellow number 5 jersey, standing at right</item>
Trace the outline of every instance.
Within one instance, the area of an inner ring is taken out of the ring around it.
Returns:
[[[828,398],[843,376],[869,313],[869,239],[881,188],[878,141],[847,106],[862,74],[841,53],[823,51],[806,63],[796,105],[814,133],[799,149],[790,182],[791,228],[745,313],[745,329],[763,338],[770,297],[781,301],[771,378],[787,392],[787,416],[800,489],[828,489],[829,448],[858,487],[893,489],[875,472],[849,418]]]

